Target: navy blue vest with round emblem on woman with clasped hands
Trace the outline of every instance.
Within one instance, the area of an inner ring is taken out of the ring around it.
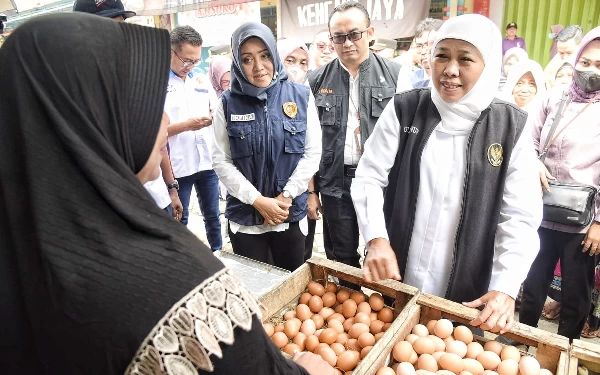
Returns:
[[[308,96],[307,86],[290,81],[270,88],[266,101],[229,90],[221,96],[233,163],[265,197],[274,198],[283,191],[304,155]],[[295,116],[284,112],[286,103],[296,104]],[[306,216],[307,199],[306,191],[294,198],[286,222]],[[252,205],[231,194],[227,195],[225,217],[244,226],[264,223]]]

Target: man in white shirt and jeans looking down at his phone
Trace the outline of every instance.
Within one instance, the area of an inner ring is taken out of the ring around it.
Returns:
[[[212,110],[217,95],[204,74],[193,72],[200,65],[202,37],[191,26],[171,31],[171,72],[165,112],[171,118],[169,149],[173,173],[179,183],[183,205],[181,223],[187,225],[192,187],[196,189],[204,217],[206,237],[213,251],[222,248],[219,221],[219,179],[212,169]]]

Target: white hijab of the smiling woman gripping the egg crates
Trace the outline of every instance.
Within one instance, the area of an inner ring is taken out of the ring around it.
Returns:
[[[449,132],[470,131],[475,121],[494,99],[498,89],[502,65],[502,36],[498,27],[487,17],[465,14],[444,22],[431,49],[433,62],[437,44],[444,39],[459,39],[471,43],[479,50],[485,67],[477,83],[454,103],[442,100],[435,86],[431,98],[442,116],[442,128]],[[434,77],[431,78],[432,80]]]

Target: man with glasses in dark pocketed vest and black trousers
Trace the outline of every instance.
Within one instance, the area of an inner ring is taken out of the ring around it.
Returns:
[[[412,87],[400,65],[369,50],[374,28],[360,3],[348,1],[335,7],[329,16],[329,34],[338,58],[309,75],[321,121],[323,153],[314,178],[321,201],[317,194],[310,194],[308,204],[310,210],[322,203],[327,258],[360,267],[350,184],[383,108],[397,90]],[[399,81],[404,82],[401,87],[397,87]]]

